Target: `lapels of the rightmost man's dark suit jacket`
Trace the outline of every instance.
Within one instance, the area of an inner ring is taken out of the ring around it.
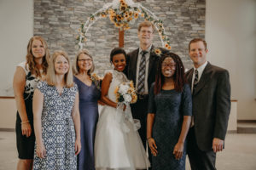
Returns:
[[[198,94],[201,91],[201,88],[203,88],[205,86],[205,84],[211,79],[211,74],[212,74],[211,68],[212,68],[212,65],[208,62],[205,70],[203,71],[203,73],[201,75],[200,81],[198,82],[198,85],[195,88],[195,92],[193,93],[193,95]],[[192,78],[191,78],[191,80],[192,80]]]

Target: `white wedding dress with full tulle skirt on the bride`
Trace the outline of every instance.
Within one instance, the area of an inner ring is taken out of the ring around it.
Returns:
[[[116,102],[114,89],[121,82],[127,82],[123,72],[112,73],[112,82],[108,89],[108,99]],[[125,114],[130,117],[125,118]],[[143,143],[137,133],[137,126],[127,106],[125,113],[108,105],[102,107],[96,126],[95,139],[96,169],[134,170],[150,167]]]

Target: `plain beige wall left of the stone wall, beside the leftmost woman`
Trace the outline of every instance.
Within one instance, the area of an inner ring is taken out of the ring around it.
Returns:
[[[13,96],[15,65],[26,58],[33,35],[33,0],[0,1],[0,96]]]

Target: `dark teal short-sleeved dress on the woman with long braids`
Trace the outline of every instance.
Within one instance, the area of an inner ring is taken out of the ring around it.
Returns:
[[[161,90],[154,95],[154,84],[150,88],[148,113],[154,113],[152,137],[155,140],[158,155],[152,156],[152,169],[184,170],[186,162],[186,142],[183,157],[176,160],[172,154],[181,133],[183,116],[192,115],[192,99],[188,84],[183,92]]]

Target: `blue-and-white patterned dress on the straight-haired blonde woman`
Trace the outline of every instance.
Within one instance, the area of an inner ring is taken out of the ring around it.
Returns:
[[[55,86],[49,86],[47,82],[39,82],[38,89],[44,94],[41,122],[46,156],[39,158],[35,150],[33,169],[76,170],[75,130],[71,113],[78,87],[74,84],[72,88],[63,88],[61,95]]]

